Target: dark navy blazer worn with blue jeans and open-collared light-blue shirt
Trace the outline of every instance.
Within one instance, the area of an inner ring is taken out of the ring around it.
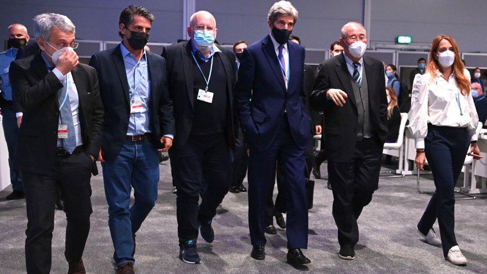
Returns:
[[[161,56],[146,52],[151,79],[149,141],[156,148],[163,148],[161,137],[174,135],[173,102],[168,96],[166,61]],[[120,45],[97,52],[91,56],[90,65],[100,79],[100,94],[105,107],[101,148],[105,161],[113,161],[122,149],[130,119],[130,95]]]

